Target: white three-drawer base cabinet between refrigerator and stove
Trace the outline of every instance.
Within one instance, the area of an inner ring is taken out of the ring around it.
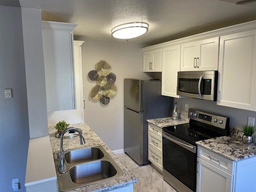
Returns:
[[[162,172],[162,128],[148,123],[148,160]]]

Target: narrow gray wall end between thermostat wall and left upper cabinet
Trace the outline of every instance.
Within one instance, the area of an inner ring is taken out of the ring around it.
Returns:
[[[30,138],[48,135],[40,9],[21,8]]]

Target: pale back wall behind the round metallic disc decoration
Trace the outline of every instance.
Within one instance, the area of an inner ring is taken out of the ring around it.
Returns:
[[[124,78],[150,78],[142,72],[140,44],[84,42],[82,45],[82,76],[85,89],[84,122],[86,122],[111,150],[124,148]],[[95,64],[106,60],[116,74],[117,93],[108,105],[94,102],[90,90],[96,85],[88,78]],[[151,77],[154,78],[154,77]],[[86,134],[86,133],[83,133]]]

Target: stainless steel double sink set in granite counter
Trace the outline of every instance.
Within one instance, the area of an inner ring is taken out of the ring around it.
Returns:
[[[53,153],[60,191],[71,190],[124,176],[124,172],[100,145],[65,152],[66,173],[58,170],[59,152]]]

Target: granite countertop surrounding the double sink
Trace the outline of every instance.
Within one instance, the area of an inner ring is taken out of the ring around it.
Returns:
[[[124,164],[119,160],[119,158],[108,148],[108,146],[95,134],[94,131],[90,129],[90,127],[86,123],[80,124],[72,124],[70,126],[74,126],[76,128],[82,129],[82,134],[86,143],[84,145],[80,145],[79,137],[74,138],[64,138],[63,139],[63,149],[75,149],[82,148],[92,145],[101,145],[106,152],[110,155],[110,157],[116,162],[116,164],[122,169],[124,172],[124,176],[119,178],[114,178],[112,180],[98,182],[96,184],[91,184],[88,186],[84,186],[81,188],[76,188],[73,190],[68,190],[67,192],[103,192],[110,191],[116,188],[125,187],[130,184],[138,182],[138,178],[134,176],[131,172],[129,172],[128,168],[124,166]],[[60,139],[55,137],[56,129],[54,127],[49,127],[49,137],[50,143],[52,147],[52,152],[60,151]]]

